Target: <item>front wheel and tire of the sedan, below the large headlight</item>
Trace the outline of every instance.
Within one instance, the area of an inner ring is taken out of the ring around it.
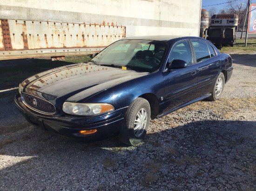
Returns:
[[[141,97],[136,98],[124,116],[119,139],[130,146],[138,145],[146,136],[149,121],[150,105],[148,101]]]

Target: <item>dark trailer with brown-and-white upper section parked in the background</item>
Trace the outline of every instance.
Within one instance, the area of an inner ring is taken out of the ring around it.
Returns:
[[[216,47],[222,48],[224,45],[234,46],[236,42],[235,28],[238,25],[237,14],[214,14],[211,17],[207,31],[207,40]]]

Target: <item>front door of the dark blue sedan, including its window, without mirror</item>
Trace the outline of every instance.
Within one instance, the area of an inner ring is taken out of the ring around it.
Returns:
[[[163,72],[165,85],[165,98],[161,106],[163,113],[167,113],[195,98],[197,66],[192,59],[189,40],[175,43],[168,56],[168,63],[174,59],[184,60],[188,66],[172,70],[167,70],[168,66],[166,66],[166,70]]]

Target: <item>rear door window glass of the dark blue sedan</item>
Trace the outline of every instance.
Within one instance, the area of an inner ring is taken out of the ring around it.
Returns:
[[[191,42],[195,50],[196,62],[201,62],[210,58],[206,42],[202,40],[191,40]]]

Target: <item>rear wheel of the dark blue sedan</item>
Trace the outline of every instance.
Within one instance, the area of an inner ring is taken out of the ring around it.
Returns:
[[[217,77],[216,83],[212,90],[212,95],[208,99],[211,101],[218,100],[222,96],[224,87],[225,87],[225,76],[221,72]]]

